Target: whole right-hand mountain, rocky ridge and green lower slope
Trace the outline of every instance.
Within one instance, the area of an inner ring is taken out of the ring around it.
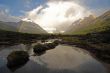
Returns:
[[[83,20],[78,20],[68,28],[65,34],[88,34],[102,32],[110,29],[110,11],[94,18],[89,16]]]

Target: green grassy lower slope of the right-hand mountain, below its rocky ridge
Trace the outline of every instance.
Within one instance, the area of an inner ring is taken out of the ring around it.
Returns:
[[[90,23],[90,25],[78,29],[75,31],[72,31],[70,34],[73,35],[81,35],[81,34],[88,34],[88,33],[97,33],[97,32],[102,32],[110,29],[110,18],[106,18],[104,20],[102,19],[97,19],[93,23]]]

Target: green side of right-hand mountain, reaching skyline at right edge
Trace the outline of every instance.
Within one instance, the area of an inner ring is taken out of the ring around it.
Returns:
[[[73,27],[74,29],[74,27]],[[81,29],[71,30],[70,34],[88,34],[88,33],[97,33],[110,30],[110,11],[104,13],[102,16],[97,17],[92,23],[88,26]]]

